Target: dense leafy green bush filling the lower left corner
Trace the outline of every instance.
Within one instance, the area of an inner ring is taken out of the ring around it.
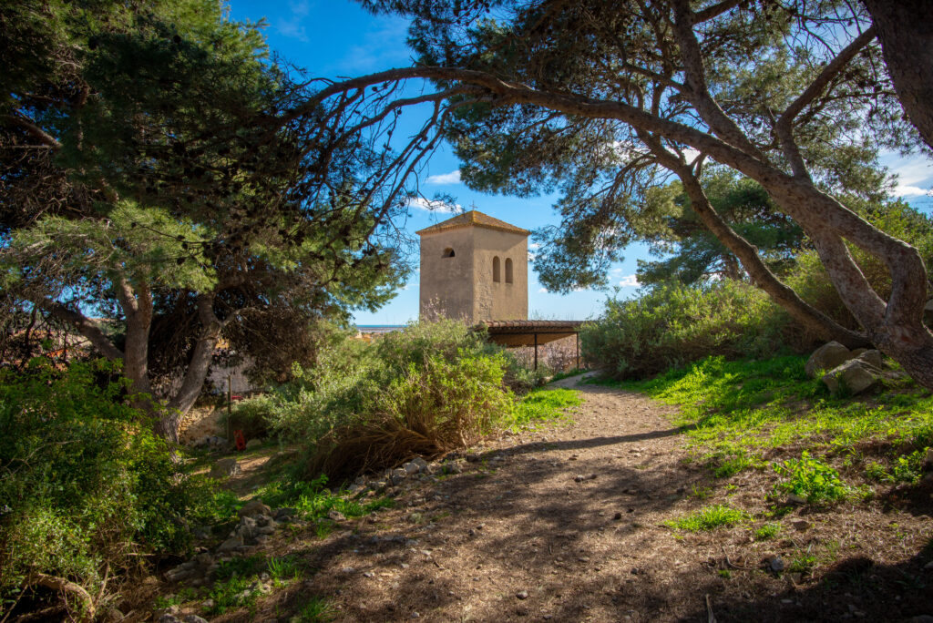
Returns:
[[[202,486],[151,422],[126,404],[104,362],[59,371],[40,360],[0,371],[0,596],[35,573],[97,594],[104,569],[188,546]],[[135,564],[135,562],[133,562]]]

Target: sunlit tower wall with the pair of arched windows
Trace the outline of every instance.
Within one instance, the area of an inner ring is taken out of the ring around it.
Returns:
[[[472,228],[474,237],[473,319],[528,319],[528,237],[488,228]],[[499,281],[493,280],[494,257],[499,258]],[[512,283],[507,260],[512,261]]]

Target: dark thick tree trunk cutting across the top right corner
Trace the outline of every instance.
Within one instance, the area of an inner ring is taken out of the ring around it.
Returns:
[[[900,105],[933,148],[933,7],[929,0],[863,0]]]

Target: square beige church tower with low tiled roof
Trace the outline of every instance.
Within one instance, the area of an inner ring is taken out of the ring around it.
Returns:
[[[528,319],[528,230],[477,210],[421,236],[421,316]]]

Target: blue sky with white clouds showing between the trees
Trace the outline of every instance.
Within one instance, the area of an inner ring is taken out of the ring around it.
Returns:
[[[312,76],[359,76],[405,66],[411,60],[405,44],[406,21],[370,15],[349,0],[230,0],[230,15],[234,20],[265,19],[265,33],[272,50]],[[888,154],[883,164],[899,174],[898,195],[929,214],[933,198],[927,192],[933,187],[933,162],[923,157]],[[467,209],[475,207],[521,228],[559,223],[550,208],[554,197],[517,199],[468,189],[459,182],[458,162],[450,149],[435,154],[427,169],[420,188],[426,197],[449,193]],[[448,217],[449,214],[412,207],[405,230],[416,238],[415,230]],[[626,298],[637,292],[634,282],[637,259],[647,258],[648,250],[643,244],[634,244],[623,255],[623,261],[612,267],[609,276],[610,284],[618,287],[620,296]],[[605,292],[597,291],[567,296],[550,294],[538,283],[536,274],[529,273],[528,311],[532,318],[592,318],[602,311],[606,296]],[[409,284],[396,298],[379,311],[357,312],[355,320],[359,325],[401,325],[417,316],[418,273],[413,272]]]

